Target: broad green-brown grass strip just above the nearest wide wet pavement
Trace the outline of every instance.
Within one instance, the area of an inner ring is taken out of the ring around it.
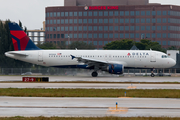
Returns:
[[[180,90],[169,89],[44,89],[44,88],[0,88],[0,96],[16,97],[145,97],[180,98]]]

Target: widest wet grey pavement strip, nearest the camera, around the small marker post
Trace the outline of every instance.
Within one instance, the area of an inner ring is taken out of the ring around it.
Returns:
[[[0,111],[0,117],[180,117],[180,99],[0,97]]]

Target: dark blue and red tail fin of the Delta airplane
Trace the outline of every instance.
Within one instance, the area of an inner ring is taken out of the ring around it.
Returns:
[[[9,23],[14,50],[40,50],[17,23]]]

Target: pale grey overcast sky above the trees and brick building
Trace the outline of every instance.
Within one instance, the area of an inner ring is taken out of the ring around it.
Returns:
[[[180,0],[149,0],[150,3],[179,5]],[[0,20],[22,22],[28,30],[41,29],[45,8],[64,6],[64,0],[0,0]]]

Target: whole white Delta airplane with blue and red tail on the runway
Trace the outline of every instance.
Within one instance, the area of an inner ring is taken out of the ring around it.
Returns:
[[[42,50],[38,48],[17,23],[9,23],[15,51],[6,52],[7,57],[24,62],[59,68],[93,69],[121,75],[125,68],[170,68],[176,61],[167,54],[153,50]]]

